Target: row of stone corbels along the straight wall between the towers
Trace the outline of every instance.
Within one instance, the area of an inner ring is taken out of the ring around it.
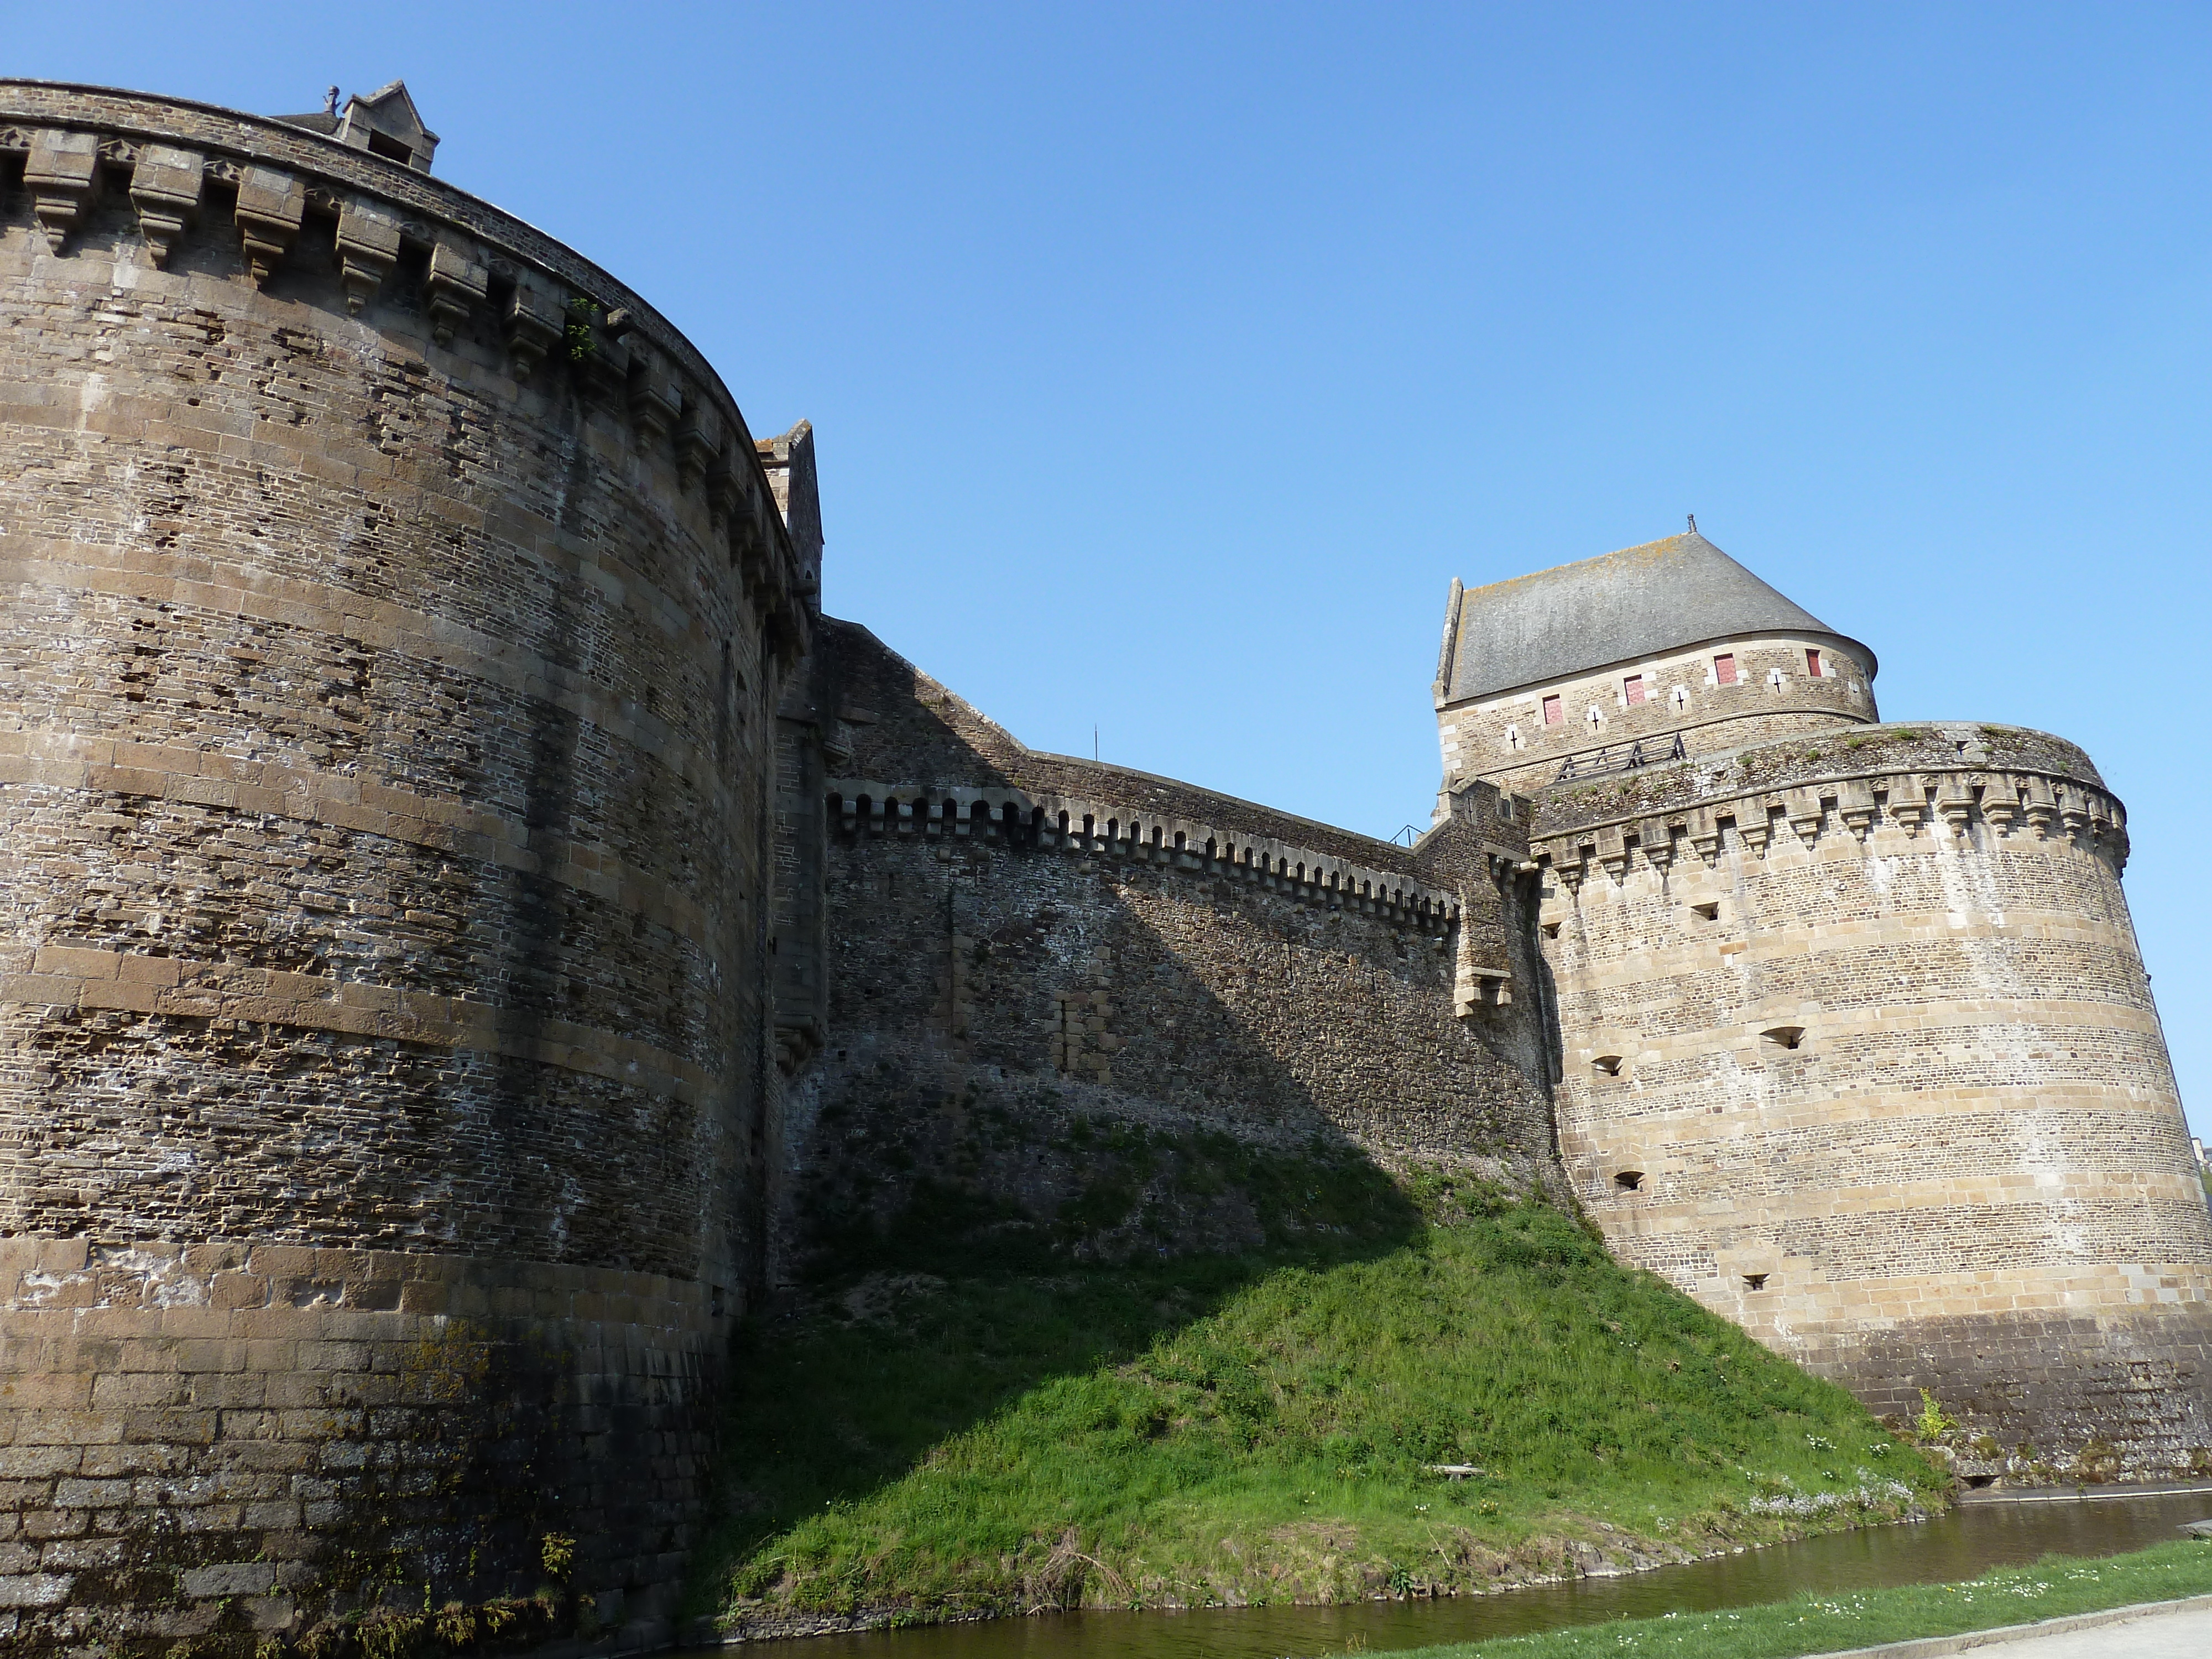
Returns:
[[[998,843],[1232,880],[1294,905],[1380,916],[1425,933],[1444,933],[1460,920],[1458,894],[1405,872],[1106,799],[830,779],[827,823],[847,838]]]

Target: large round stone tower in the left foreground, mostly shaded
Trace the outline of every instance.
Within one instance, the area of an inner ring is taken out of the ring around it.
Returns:
[[[434,144],[0,82],[9,1652],[690,1542],[812,451]]]

